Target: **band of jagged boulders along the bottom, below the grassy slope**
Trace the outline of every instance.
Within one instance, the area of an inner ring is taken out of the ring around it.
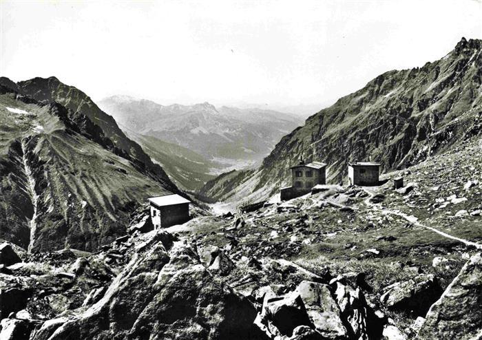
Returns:
[[[93,254],[65,250],[28,255],[3,243],[0,339],[481,335],[480,253],[470,257],[445,291],[434,275],[415,274],[386,287],[374,304],[367,298],[364,273],[338,275],[328,267],[313,273],[273,257],[233,261],[225,247],[189,242],[166,231],[140,233],[145,221],[138,215],[132,235]],[[384,310],[423,317],[400,330]]]

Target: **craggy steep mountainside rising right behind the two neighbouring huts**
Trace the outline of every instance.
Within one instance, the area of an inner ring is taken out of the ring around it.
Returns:
[[[349,161],[375,160],[384,171],[415,164],[478,129],[481,83],[482,41],[462,39],[439,61],[381,74],[311,116],[304,127],[282,138],[255,175],[238,176],[230,185],[244,187],[257,176],[251,198],[266,198],[289,184],[289,167],[300,156],[328,163],[331,183],[344,181]],[[236,190],[202,191],[233,200]]]

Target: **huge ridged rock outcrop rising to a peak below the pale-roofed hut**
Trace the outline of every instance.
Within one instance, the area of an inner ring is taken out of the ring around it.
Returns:
[[[265,339],[253,323],[256,315],[253,304],[213,277],[190,246],[145,242],[101,299],[45,322],[33,337]]]

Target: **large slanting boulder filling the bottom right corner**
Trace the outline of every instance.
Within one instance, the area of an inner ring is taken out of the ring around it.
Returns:
[[[428,310],[418,339],[481,339],[482,257],[478,253]]]

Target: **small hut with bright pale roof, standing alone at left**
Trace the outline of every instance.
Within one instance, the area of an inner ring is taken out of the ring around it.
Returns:
[[[167,228],[189,221],[189,200],[180,195],[149,198],[154,229]]]

